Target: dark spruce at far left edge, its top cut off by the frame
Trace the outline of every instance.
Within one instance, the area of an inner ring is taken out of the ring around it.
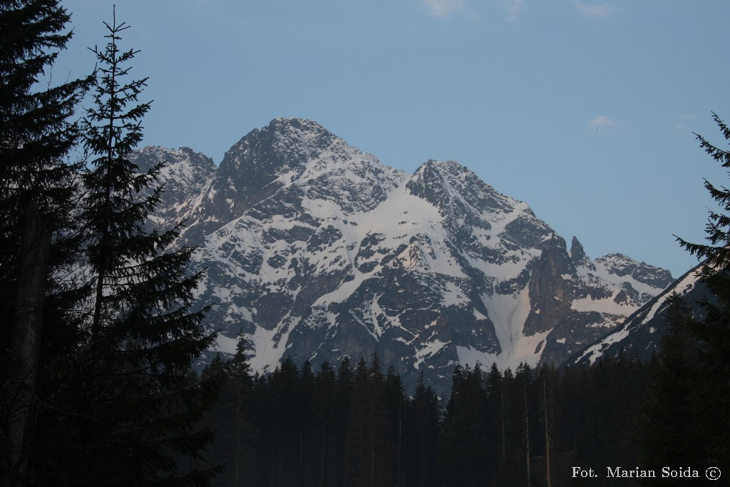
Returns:
[[[26,481],[46,296],[72,199],[69,122],[91,77],[53,86],[71,37],[57,0],[0,1],[0,482]],[[42,80],[45,77],[46,80]],[[41,83],[47,81],[47,83]],[[49,286],[50,283],[50,286]]]

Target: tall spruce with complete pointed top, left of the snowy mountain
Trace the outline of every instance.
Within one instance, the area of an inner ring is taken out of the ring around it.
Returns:
[[[145,80],[126,80],[137,54],[119,48],[128,26],[116,16],[105,26],[107,45],[93,49],[93,106],[82,121],[91,166],[82,175],[80,259],[89,292],[69,366],[77,395],[66,404],[77,426],[69,460],[56,467],[77,485],[207,485],[215,469],[201,450],[212,434],[195,426],[217,383],[191,380],[190,371],[215,334],[201,326],[207,307],[194,304],[201,275],[188,268],[192,249],[169,250],[179,226],[145,228],[160,199],[164,163],[139,174],[128,160],[150,104],[137,101]]]

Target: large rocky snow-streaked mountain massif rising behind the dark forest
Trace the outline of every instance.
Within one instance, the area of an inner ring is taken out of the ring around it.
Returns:
[[[140,150],[171,164],[158,223],[207,268],[218,349],[243,331],[258,372],[291,356],[318,367],[377,352],[439,391],[457,362],[564,361],[672,283],[620,254],[591,261],[529,206],[455,161],[413,175],[299,118],[277,118],[216,169],[192,150]]]

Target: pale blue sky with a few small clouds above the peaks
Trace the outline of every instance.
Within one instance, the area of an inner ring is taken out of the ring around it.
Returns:
[[[316,120],[385,164],[454,159],[530,204],[591,258],[675,277],[727,175],[726,0],[66,0],[53,76],[93,69],[112,4],[141,52],[144,145],[220,163],[278,116]],[[724,147],[724,145],[723,145]]]

